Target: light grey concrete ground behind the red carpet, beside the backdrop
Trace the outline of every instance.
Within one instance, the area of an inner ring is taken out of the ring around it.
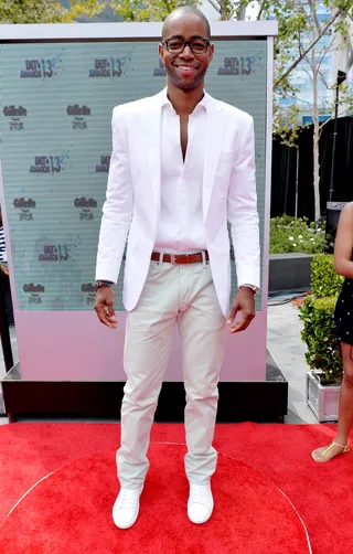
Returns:
[[[269,300],[267,347],[275,362],[289,383],[288,416],[286,423],[318,423],[306,402],[306,347],[300,339],[301,321],[298,309],[287,301],[288,297]],[[285,302],[285,303],[284,303]],[[14,363],[19,359],[14,329],[10,330]],[[0,379],[6,369],[0,348]],[[0,414],[3,413],[2,392],[0,387]],[[0,425],[8,418],[0,416]]]

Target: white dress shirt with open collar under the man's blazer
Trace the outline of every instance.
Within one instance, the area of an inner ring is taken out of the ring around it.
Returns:
[[[183,160],[180,117],[162,97],[161,211],[154,251],[171,254],[206,249],[202,215],[206,97],[189,116],[188,147]]]

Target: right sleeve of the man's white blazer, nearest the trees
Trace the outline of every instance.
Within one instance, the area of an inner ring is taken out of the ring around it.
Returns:
[[[238,286],[249,284],[260,287],[254,120],[247,114],[245,116],[240,124],[240,145],[231,177],[227,219],[232,225]]]

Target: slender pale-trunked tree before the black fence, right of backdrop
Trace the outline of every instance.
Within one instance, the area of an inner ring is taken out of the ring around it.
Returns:
[[[320,2],[321,3],[321,2]],[[350,12],[341,12],[341,17],[338,18],[335,10],[322,21],[318,18],[318,6],[317,0],[306,0],[296,2],[296,13],[302,15],[302,25],[298,33],[293,35],[292,47],[289,54],[295,53],[296,62],[300,58],[299,63],[289,62],[284,65],[284,72],[277,77],[277,87],[275,79],[275,90],[277,93],[277,102],[275,102],[275,131],[282,137],[282,141],[292,146],[296,143],[300,127],[300,121],[298,120],[298,113],[300,111],[300,106],[303,107],[304,111],[311,116],[313,124],[313,143],[312,143],[312,155],[313,155],[313,193],[314,193],[314,217],[320,219],[320,137],[323,127],[332,119],[334,115],[334,103],[332,102],[332,93],[330,92],[330,97],[323,94],[323,90],[335,89],[335,83],[331,87],[329,81],[330,75],[324,72],[323,62],[328,54],[333,55],[335,49],[342,47],[346,43],[347,39],[347,19]],[[347,2],[345,3],[347,7]],[[333,23],[334,21],[334,23]],[[332,22],[329,25],[329,22]],[[323,30],[327,30],[323,33]],[[336,35],[340,35],[341,40],[336,41]],[[297,56],[296,56],[297,54]],[[284,62],[286,62],[286,55],[284,54]],[[292,67],[292,68],[290,68]],[[306,98],[300,94],[300,89],[291,86],[290,79],[292,77],[293,68],[300,68],[304,72],[311,82],[311,98]],[[330,72],[331,73],[331,72]],[[282,78],[282,81],[281,81]],[[282,83],[285,86],[278,86],[278,83]],[[340,85],[341,88],[341,100],[345,103],[346,111],[352,108],[352,94],[349,93],[346,85]],[[325,96],[325,98],[324,98]],[[285,107],[280,105],[280,98],[286,97],[291,99],[291,104]],[[331,117],[322,120],[320,118],[321,114],[331,114]]]

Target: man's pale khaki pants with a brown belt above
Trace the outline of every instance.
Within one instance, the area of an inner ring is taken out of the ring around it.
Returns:
[[[128,313],[121,406],[121,447],[117,452],[122,487],[139,488],[149,462],[150,430],[168,363],[175,323],[181,339],[186,392],[185,471],[190,482],[206,483],[216,468],[212,446],[225,318],[207,264],[151,262],[137,307]]]

